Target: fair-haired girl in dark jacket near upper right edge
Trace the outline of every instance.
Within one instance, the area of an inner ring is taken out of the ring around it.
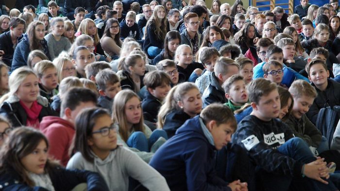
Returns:
[[[314,48],[323,47],[331,51],[332,42],[329,40],[329,27],[323,23],[318,24],[314,31],[314,38],[301,42],[302,47],[309,54]]]

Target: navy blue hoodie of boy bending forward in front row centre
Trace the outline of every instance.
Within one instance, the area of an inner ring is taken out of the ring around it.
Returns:
[[[199,119],[187,120],[157,150],[150,165],[165,177],[171,191],[231,191],[214,170],[216,149],[205,137]]]

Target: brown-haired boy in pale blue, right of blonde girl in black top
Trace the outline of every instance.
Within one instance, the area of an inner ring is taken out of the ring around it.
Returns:
[[[203,74],[195,81],[201,93],[210,84],[210,73],[214,71],[216,61],[220,57],[220,53],[215,48],[204,47],[200,50],[200,60],[204,66]]]

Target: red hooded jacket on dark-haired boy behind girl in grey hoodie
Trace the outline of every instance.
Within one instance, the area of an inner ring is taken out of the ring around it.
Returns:
[[[66,167],[68,150],[75,135],[74,125],[60,117],[47,116],[42,119],[39,128],[49,140],[49,155]]]

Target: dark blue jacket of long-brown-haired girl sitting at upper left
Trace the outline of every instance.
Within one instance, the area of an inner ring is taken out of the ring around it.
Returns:
[[[45,55],[51,60],[49,47],[47,46],[47,41],[45,40],[45,38],[43,40],[40,40],[40,43],[44,49],[41,51],[44,52]],[[17,48],[14,51],[11,71],[14,71],[15,69],[22,66],[27,66],[27,58],[30,52],[30,42],[27,33],[25,33],[20,42],[17,43]]]

